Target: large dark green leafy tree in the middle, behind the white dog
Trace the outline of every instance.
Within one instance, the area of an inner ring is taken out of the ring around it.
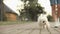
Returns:
[[[36,21],[37,15],[43,12],[43,7],[40,4],[38,4],[37,2],[38,0],[22,0],[22,1],[25,3],[24,10],[27,18]]]

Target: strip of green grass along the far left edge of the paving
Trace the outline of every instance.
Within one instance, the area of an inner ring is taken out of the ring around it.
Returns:
[[[13,25],[13,24],[25,24],[32,23],[32,21],[1,21],[0,25]]]

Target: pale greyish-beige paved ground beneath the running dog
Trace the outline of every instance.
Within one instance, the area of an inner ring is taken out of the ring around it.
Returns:
[[[0,34],[60,34],[60,27],[54,28],[54,23],[50,24],[51,28],[49,30],[40,30],[36,22],[26,24],[5,25],[0,26]]]

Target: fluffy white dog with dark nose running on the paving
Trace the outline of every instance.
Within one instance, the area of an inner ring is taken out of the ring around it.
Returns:
[[[49,28],[50,27],[47,16],[45,14],[41,14],[38,17],[38,24],[39,24],[40,28]]]

